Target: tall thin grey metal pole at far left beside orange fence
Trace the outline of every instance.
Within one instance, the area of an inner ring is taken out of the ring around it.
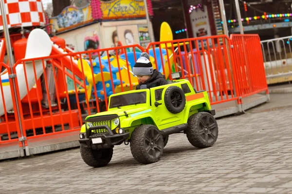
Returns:
[[[5,4],[4,4],[4,0],[0,0],[0,8],[1,8],[1,14],[2,14],[2,23],[3,23],[3,31],[4,31],[4,37],[5,37],[5,42],[6,42],[6,49],[7,49],[7,55],[9,58],[9,66],[11,69],[11,74],[9,75],[9,78],[12,79],[13,82],[13,95],[15,96],[16,99],[16,109],[15,110],[17,112],[18,115],[18,123],[19,123],[19,130],[20,130],[20,135],[21,137],[19,138],[18,141],[22,142],[22,147],[23,149],[25,149],[25,154],[29,155],[29,150],[27,150],[25,148],[25,143],[24,141],[26,140],[26,137],[23,136],[23,131],[22,131],[22,125],[21,125],[21,117],[20,117],[20,112],[19,112],[19,104],[18,104],[18,98],[17,98],[17,94],[16,94],[16,83],[15,83],[15,79],[16,78],[16,74],[14,74],[13,72],[13,65],[15,63],[13,55],[12,55],[12,49],[11,49],[11,42],[10,42],[10,35],[9,35],[9,30],[8,30],[8,25],[7,25],[7,18],[6,18],[6,12],[5,12]]]

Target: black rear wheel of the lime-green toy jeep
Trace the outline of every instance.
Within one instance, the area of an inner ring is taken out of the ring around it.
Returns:
[[[189,117],[186,136],[197,148],[211,147],[218,137],[218,125],[213,115],[199,112]]]

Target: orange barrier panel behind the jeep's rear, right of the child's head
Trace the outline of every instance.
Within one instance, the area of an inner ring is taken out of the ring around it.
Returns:
[[[223,42],[221,45],[219,40]],[[171,79],[173,70],[182,71],[183,78],[188,79],[197,91],[208,92],[211,104],[238,99],[232,80],[233,64],[228,55],[230,40],[227,36],[153,42],[146,50],[149,52],[155,47],[154,59],[162,61],[162,71],[168,78]],[[163,52],[166,53],[164,58]],[[169,72],[165,71],[166,68]]]

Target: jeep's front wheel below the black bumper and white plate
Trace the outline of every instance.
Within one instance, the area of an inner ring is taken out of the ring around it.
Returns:
[[[91,148],[80,146],[80,153],[83,161],[92,167],[106,166],[112,157],[112,148],[93,150]]]

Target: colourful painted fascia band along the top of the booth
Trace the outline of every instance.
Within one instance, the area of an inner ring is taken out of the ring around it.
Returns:
[[[146,1],[149,16],[153,16],[151,0]],[[81,8],[66,7],[58,16],[50,18],[49,22],[54,24],[57,32],[63,32],[96,20],[145,17],[144,0],[90,0],[88,5]],[[143,35],[146,36],[148,33]]]

